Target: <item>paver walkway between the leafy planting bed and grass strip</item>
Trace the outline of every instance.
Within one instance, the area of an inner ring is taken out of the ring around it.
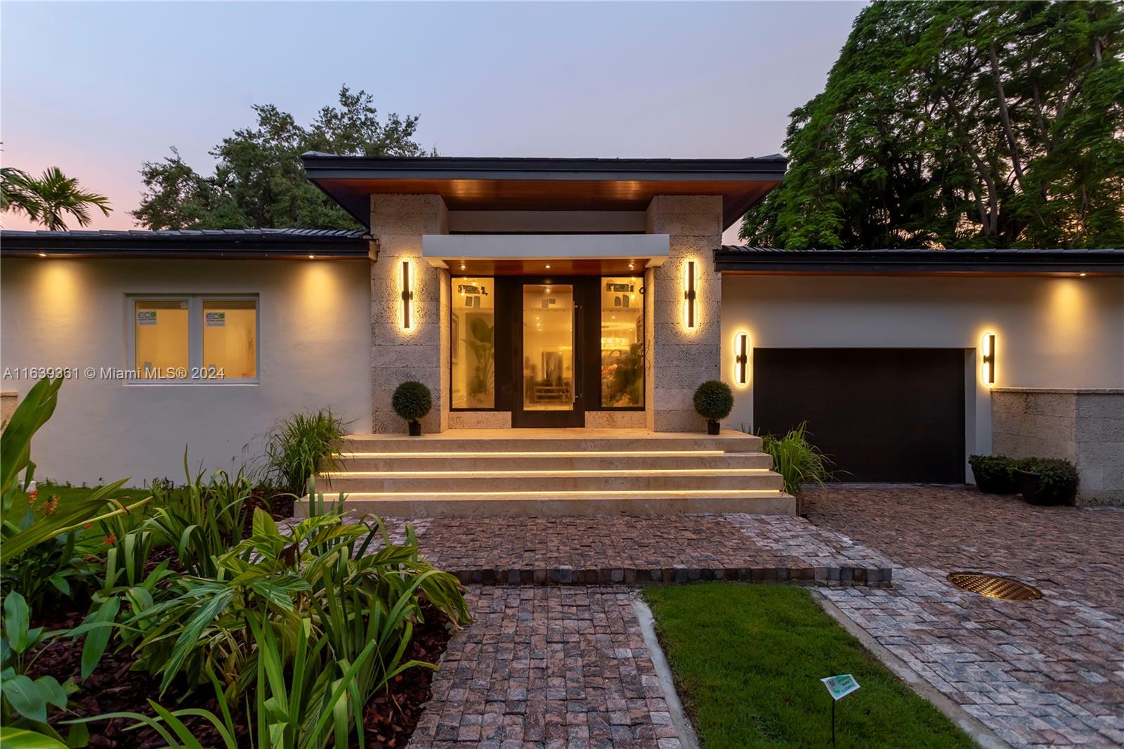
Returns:
[[[679,739],[632,607],[613,587],[473,586],[410,747],[659,747]]]

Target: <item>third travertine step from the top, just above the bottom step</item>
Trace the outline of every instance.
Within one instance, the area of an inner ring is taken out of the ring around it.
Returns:
[[[540,470],[540,471],[357,471],[324,473],[324,491],[623,491],[692,489],[773,489],[783,482],[763,468],[696,468],[681,470]],[[320,482],[318,481],[318,485]]]

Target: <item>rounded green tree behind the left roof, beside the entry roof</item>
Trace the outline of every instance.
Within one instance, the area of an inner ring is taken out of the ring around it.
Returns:
[[[145,192],[133,216],[153,229],[305,227],[357,228],[305,179],[300,154],[419,156],[418,117],[380,120],[371,94],[339,89],[339,106],[324,107],[308,126],[273,105],[255,105],[257,125],[237,129],[210,154],[215,171],[202,175],[173,147],[163,161],[140,169]]]

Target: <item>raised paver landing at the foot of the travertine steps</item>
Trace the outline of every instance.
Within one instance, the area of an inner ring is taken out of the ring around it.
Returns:
[[[792,515],[387,517],[414,527],[422,556],[465,585],[692,580],[885,586],[890,562]]]

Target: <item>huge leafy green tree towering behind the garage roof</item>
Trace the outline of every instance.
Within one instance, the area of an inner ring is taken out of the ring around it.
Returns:
[[[750,243],[1124,246],[1124,6],[874,2],[785,144]]]

